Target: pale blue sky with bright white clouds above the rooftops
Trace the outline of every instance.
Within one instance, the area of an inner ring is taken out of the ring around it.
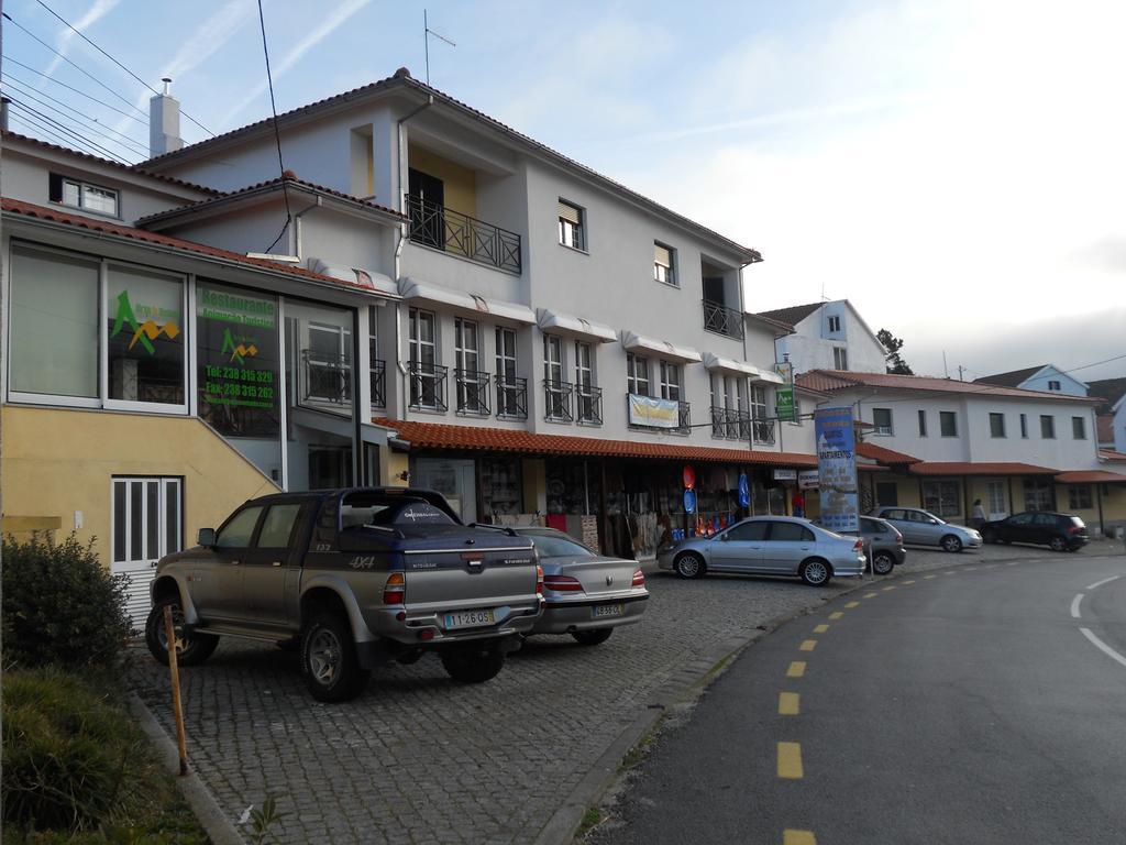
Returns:
[[[44,2],[171,77],[187,142],[269,115],[252,0]],[[423,8],[456,44],[430,39],[436,88],[760,250],[749,310],[848,299],[920,374],[1126,375],[1126,3],[268,0],[278,110],[425,80]],[[3,9],[98,80],[6,20],[9,96],[140,160],[115,133],[146,146],[151,91]]]

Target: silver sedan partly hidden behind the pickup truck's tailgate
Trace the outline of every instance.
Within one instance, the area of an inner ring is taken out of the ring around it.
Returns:
[[[635,560],[605,558],[554,528],[516,528],[539,553],[544,613],[529,634],[569,633],[583,646],[606,642],[641,621],[649,590]]]

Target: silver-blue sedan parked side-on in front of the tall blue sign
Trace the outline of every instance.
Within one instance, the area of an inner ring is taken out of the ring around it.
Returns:
[[[658,566],[681,578],[705,572],[797,576],[811,586],[864,575],[864,541],[808,519],[752,516],[712,537],[688,537],[658,552]]]

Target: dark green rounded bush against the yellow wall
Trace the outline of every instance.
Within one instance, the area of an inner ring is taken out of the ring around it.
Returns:
[[[73,534],[3,539],[2,612],[6,666],[111,666],[129,634],[125,578]]]

